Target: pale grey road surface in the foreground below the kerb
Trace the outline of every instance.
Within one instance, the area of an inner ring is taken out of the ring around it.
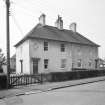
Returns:
[[[105,105],[105,81],[7,97],[0,105]]]

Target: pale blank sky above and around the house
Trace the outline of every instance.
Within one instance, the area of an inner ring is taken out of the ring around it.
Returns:
[[[99,57],[105,58],[105,0],[10,0],[10,56],[14,45],[46,15],[46,24],[54,26],[60,15],[64,28],[77,23],[77,31],[100,45]],[[0,0],[0,48],[6,54],[6,6]]]

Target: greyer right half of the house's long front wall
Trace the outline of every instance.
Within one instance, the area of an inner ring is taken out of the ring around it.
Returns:
[[[95,59],[98,58],[98,48],[86,45],[72,44],[72,61],[73,67],[77,67],[78,59],[82,60],[81,68],[95,69]],[[92,61],[92,66],[89,67],[89,61]]]

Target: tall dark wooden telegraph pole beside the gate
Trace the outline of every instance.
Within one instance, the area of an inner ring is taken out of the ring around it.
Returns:
[[[10,35],[9,35],[9,8],[10,8],[10,0],[6,0],[6,44],[7,44],[7,88],[9,88],[10,84]]]

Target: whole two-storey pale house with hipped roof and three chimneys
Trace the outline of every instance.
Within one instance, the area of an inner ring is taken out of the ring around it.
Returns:
[[[95,69],[99,45],[76,31],[76,23],[63,28],[58,16],[55,26],[46,25],[46,16],[16,45],[17,73],[65,72]]]

